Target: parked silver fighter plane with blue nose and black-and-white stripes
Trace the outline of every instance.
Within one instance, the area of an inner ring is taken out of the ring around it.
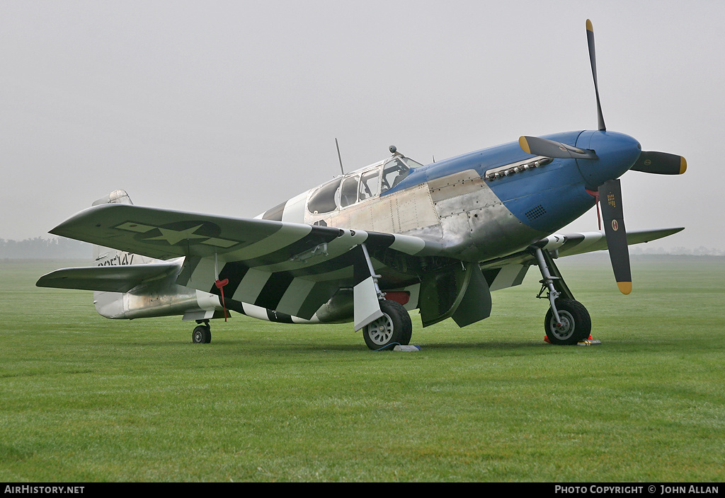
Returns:
[[[626,233],[620,177],[633,169],[682,174],[681,156],[642,151],[606,129],[587,20],[598,129],[521,137],[423,165],[392,156],[349,172],[255,219],[133,206],[116,190],[51,230],[96,244],[95,265],[60,269],[41,287],[94,290],[109,318],[183,315],[210,342],[228,311],[288,323],[353,321],[371,349],[410,342],[423,326],[489,316],[492,290],[542,273],[550,342],[574,344],[591,321],[554,263],[608,249],[621,292],[631,290],[628,244],[682,228]],[[604,232],[554,232],[600,200]],[[553,234],[553,235],[552,235]],[[113,248],[113,249],[110,249]]]

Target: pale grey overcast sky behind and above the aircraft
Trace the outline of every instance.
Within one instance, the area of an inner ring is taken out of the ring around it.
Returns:
[[[389,156],[592,129],[682,154],[622,177],[628,229],[725,248],[722,1],[0,0],[0,237],[112,190],[251,217]],[[568,230],[597,228],[590,211]],[[562,230],[566,232],[567,229]]]

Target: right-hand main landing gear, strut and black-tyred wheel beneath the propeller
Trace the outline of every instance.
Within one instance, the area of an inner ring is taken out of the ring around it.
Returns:
[[[544,331],[549,342],[556,345],[570,345],[581,342],[592,332],[592,318],[584,305],[574,300],[574,296],[560,277],[554,260],[548,251],[531,246],[531,252],[537,258],[542,273],[542,290],[537,297],[547,292],[550,308],[544,319]],[[552,271],[555,275],[552,275]]]

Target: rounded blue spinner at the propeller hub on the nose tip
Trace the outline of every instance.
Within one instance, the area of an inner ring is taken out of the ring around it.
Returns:
[[[599,159],[577,159],[581,177],[587,187],[596,189],[608,180],[614,180],[626,173],[639,158],[642,145],[624,133],[609,131],[581,132],[576,146],[592,149]]]

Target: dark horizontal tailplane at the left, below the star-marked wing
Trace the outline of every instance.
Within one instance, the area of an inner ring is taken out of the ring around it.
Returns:
[[[179,269],[180,266],[177,263],[63,268],[43,275],[36,282],[36,286],[128,292],[139,284],[167,277]]]

